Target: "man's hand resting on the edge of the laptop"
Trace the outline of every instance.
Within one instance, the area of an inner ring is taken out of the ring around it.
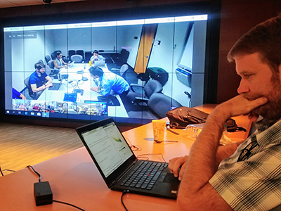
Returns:
[[[178,157],[173,158],[169,160],[169,170],[172,174],[174,174],[175,177],[178,177],[178,180],[181,181],[181,178],[183,177],[183,171],[185,169],[185,163],[188,160],[188,155],[185,155],[184,157]],[[178,170],[181,168],[179,174]]]

